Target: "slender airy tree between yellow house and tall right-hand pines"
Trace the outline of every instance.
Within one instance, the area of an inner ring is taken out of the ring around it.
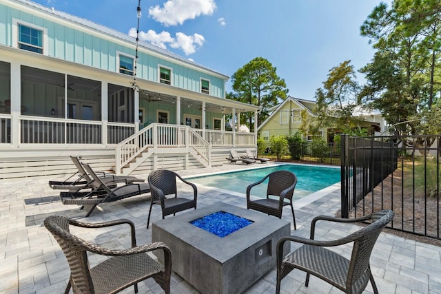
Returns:
[[[357,107],[358,83],[351,61],[343,61],[329,70],[323,87],[316,90],[316,118],[309,134],[318,134],[323,127],[334,127],[350,134],[360,128],[360,120],[353,116]]]

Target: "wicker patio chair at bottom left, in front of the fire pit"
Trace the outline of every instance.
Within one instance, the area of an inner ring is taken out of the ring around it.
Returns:
[[[105,249],[85,241],[70,233],[70,225],[82,228],[103,228],[117,224],[129,224],[132,234],[132,248]],[[113,220],[110,222],[86,223],[65,218],[49,216],[44,226],[59,243],[70,267],[70,279],[65,293],[72,286],[74,293],[117,293],[134,285],[138,293],[138,282],[149,277],[170,293],[170,277],[172,275],[172,253],[163,242],[155,242],[136,246],[135,227],[130,220]],[[164,265],[158,264],[147,252],[163,251]],[[106,260],[90,267],[88,253],[105,255]]]

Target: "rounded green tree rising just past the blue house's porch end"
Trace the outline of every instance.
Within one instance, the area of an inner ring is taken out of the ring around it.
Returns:
[[[232,89],[236,93],[227,94],[228,98],[262,107],[258,114],[257,125],[260,125],[269,115],[269,108],[279,103],[278,99],[287,97],[288,89],[283,78],[276,74],[276,67],[264,59],[256,57],[232,75]],[[241,115],[240,123],[245,123],[252,129],[254,114]]]

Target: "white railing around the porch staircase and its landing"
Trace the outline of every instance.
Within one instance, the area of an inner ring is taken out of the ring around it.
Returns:
[[[183,125],[152,123],[116,145],[116,173],[147,147],[191,147],[209,162],[209,144],[194,129]],[[209,163],[208,163],[209,164]]]

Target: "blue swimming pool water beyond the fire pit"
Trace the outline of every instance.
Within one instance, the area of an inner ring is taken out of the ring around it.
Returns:
[[[261,169],[247,169],[245,171],[233,171],[211,176],[199,176],[187,178],[196,185],[216,187],[237,193],[247,193],[248,185],[258,182],[272,171],[286,169],[297,176],[297,185],[294,190],[294,198],[300,199],[311,193],[320,191],[326,187],[340,182],[340,168],[316,167],[309,165],[276,165]],[[267,180],[252,189],[252,195],[265,197]]]

